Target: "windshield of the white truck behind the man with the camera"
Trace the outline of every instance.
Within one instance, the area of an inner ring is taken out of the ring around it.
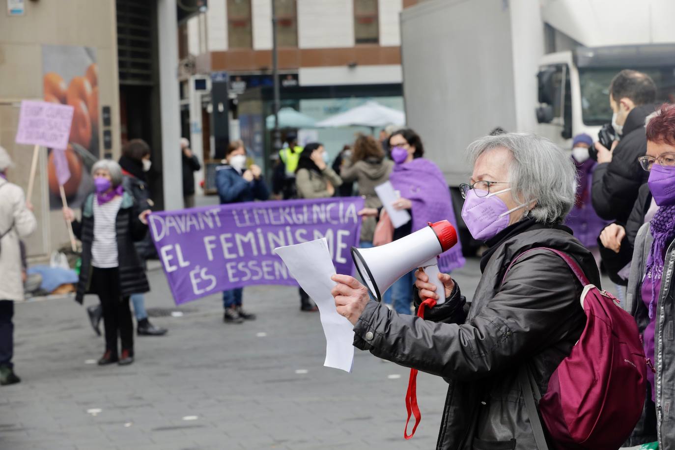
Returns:
[[[610,82],[621,68],[579,68],[581,110],[585,125],[603,125],[612,121]],[[657,87],[658,102],[675,103],[675,66],[641,67],[640,72],[651,76]]]

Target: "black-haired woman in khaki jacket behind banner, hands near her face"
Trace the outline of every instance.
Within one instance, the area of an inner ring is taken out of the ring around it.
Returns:
[[[298,198],[329,198],[342,178],[328,165],[328,154],[323,144],[312,142],[304,146],[296,169]],[[300,287],[300,311],[318,311],[307,293]]]

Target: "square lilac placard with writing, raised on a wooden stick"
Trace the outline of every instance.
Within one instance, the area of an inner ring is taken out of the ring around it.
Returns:
[[[73,122],[74,108],[70,105],[24,100],[19,113],[17,144],[66,148]]]

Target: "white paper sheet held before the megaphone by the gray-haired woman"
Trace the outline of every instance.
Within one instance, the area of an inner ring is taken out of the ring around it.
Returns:
[[[345,372],[352,371],[354,363],[354,326],[338,314],[331,289],[335,281],[335,267],[324,238],[294,246],[278,247],[274,252],[281,256],[291,275],[319,307],[323,334],[326,336],[326,359],[323,365]]]

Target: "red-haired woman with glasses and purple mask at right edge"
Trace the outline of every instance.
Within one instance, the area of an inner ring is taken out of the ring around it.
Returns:
[[[631,214],[630,222],[642,217],[643,225],[634,237],[623,306],[637,321],[653,370],[647,371],[643,418],[627,444],[649,443],[658,437],[659,449],[670,449],[675,447],[671,425],[675,420],[675,105],[663,105],[647,117],[646,133],[647,154],[639,161],[649,172],[649,181]],[[612,235],[604,231],[603,235],[605,247],[616,248]]]

